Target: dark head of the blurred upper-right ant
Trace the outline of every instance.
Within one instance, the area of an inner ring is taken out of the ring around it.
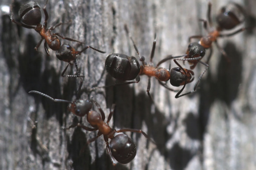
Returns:
[[[194,42],[194,43],[190,43],[188,45],[188,49],[186,54],[188,55],[188,58],[194,58],[194,57],[203,57],[205,56],[205,48],[203,48],[202,45]]]

